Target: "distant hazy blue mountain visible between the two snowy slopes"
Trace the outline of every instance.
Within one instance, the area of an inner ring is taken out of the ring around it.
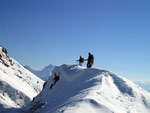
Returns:
[[[48,77],[50,76],[50,73],[55,68],[55,66],[52,65],[52,64],[44,67],[41,70],[33,70],[29,66],[27,66],[27,65],[24,66],[24,67],[26,69],[28,69],[30,72],[32,72],[33,74],[35,74],[36,76],[38,76],[39,78],[41,78],[42,80],[44,80],[44,81],[46,81],[48,79]]]

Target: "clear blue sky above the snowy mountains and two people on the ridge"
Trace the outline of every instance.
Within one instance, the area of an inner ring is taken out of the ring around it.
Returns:
[[[96,68],[150,80],[149,6],[148,0],[0,0],[0,45],[33,69],[76,64],[91,52]]]

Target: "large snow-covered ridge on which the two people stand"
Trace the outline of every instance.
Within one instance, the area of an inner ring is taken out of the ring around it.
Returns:
[[[56,67],[25,113],[150,113],[150,93],[112,72]]]

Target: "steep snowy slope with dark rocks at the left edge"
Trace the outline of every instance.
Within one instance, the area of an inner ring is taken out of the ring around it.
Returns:
[[[22,107],[42,90],[43,81],[26,70],[0,46],[0,110]]]

